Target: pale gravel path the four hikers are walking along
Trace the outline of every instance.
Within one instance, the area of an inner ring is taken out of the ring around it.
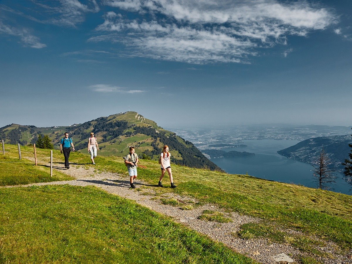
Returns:
[[[199,233],[207,235],[215,241],[224,243],[231,249],[243,253],[244,255],[257,260],[259,263],[272,264],[272,263],[299,263],[295,261],[298,256],[304,255],[304,253],[298,251],[294,247],[288,244],[278,244],[271,243],[266,239],[241,239],[233,235],[240,230],[240,226],[249,222],[260,222],[261,219],[253,218],[246,215],[239,215],[237,213],[225,213],[220,208],[214,205],[203,205],[195,207],[190,210],[183,210],[180,207],[175,207],[171,205],[163,205],[160,198],[173,198],[180,202],[193,201],[197,202],[190,197],[182,197],[174,193],[156,195],[155,190],[159,187],[151,186],[146,184],[138,178],[135,180],[135,185],[137,189],[131,189],[129,178],[127,176],[122,176],[116,173],[110,172],[99,172],[96,173],[94,167],[89,169],[84,169],[82,166],[70,165],[69,170],[60,171],[73,176],[76,180],[71,181],[58,181],[58,182],[48,182],[48,183],[35,183],[28,184],[31,185],[50,185],[50,184],[70,184],[74,186],[96,186],[108,193],[118,195],[130,200],[136,201],[138,204],[148,207],[158,213],[172,217],[176,222],[180,222],[189,228],[196,230]],[[165,186],[166,181],[165,179]],[[157,181],[157,179],[156,179]],[[169,186],[169,184],[168,184]],[[143,191],[138,191],[138,189],[143,188]],[[159,199],[156,199],[158,197]],[[215,212],[222,212],[225,217],[231,218],[232,222],[219,223],[206,220],[197,219],[203,212],[203,210],[212,210]],[[292,232],[293,231],[286,231]],[[352,251],[345,255],[339,255],[336,251],[338,248],[334,243],[328,243],[320,251],[327,252],[330,258],[318,258],[316,260],[324,264],[352,264]],[[281,255],[281,257],[279,256]],[[290,257],[288,257],[290,256]],[[280,260],[285,260],[279,262]]]

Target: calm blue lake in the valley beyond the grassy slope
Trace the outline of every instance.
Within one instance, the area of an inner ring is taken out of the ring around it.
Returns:
[[[232,157],[210,159],[221,169],[230,174],[246,174],[272,180],[277,182],[300,184],[306,187],[317,188],[313,178],[313,166],[304,162],[283,157],[277,153],[278,150],[296,145],[300,140],[242,140],[240,144],[247,147],[228,147],[224,151],[247,151],[255,153],[253,157]],[[335,192],[351,194],[351,188],[342,176],[337,173],[336,184],[332,184]]]

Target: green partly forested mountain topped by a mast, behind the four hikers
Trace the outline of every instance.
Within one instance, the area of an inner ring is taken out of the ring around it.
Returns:
[[[164,145],[168,145],[171,162],[191,168],[222,171],[209,161],[193,143],[164,130],[156,122],[136,112],[125,112],[100,117],[83,124],[71,126],[36,127],[11,124],[0,128],[0,139],[7,144],[33,144],[38,135],[48,135],[55,149],[65,132],[68,132],[77,151],[87,153],[90,132],[94,132],[99,144],[98,155],[124,157],[130,146],[136,147],[140,158],[157,160]]]

